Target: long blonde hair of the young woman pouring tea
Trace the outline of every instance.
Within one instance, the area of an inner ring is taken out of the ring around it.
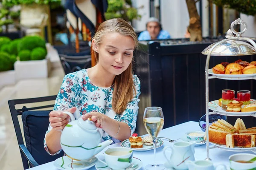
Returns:
[[[120,18],[113,18],[111,20],[103,22],[99,26],[92,40],[94,39],[96,44],[100,44],[105,35],[113,32],[117,32],[123,36],[130,36],[135,42],[134,48],[137,48],[138,40],[134,29],[129,23]],[[94,53],[94,56],[96,57],[96,62],[98,63],[99,54],[96,53],[94,50],[92,50],[92,53]],[[132,62],[124,72],[116,75],[113,88],[114,90],[112,98],[112,109],[116,113],[121,114],[123,111],[125,111],[128,102],[133,99],[134,92],[136,94],[132,76]]]

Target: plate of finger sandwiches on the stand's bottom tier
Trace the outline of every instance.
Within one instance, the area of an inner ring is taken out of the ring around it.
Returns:
[[[234,126],[218,119],[209,126],[209,142],[224,150],[256,151],[256,127],[246,128],[240,118]]]

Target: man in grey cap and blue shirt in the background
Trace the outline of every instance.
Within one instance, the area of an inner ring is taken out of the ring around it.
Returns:
[[[149,18],[146,24],[146,31],[140,33],[139,41],[145,40],[165,40],[170,39],[171,36],[168,31],[162,30],[161,23],[155,17]]]

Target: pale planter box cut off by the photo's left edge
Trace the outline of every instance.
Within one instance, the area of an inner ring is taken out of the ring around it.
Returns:
[[[5,85],[15,85],[15,71],[1,71],[0,72],[0,89],[3,88]]]

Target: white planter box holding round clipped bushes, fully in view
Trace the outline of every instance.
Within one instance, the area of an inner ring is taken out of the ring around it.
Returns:
[[[50,59],[17,61],[14,64],[15,76],[20,79],[46,78],[51,71]]]

